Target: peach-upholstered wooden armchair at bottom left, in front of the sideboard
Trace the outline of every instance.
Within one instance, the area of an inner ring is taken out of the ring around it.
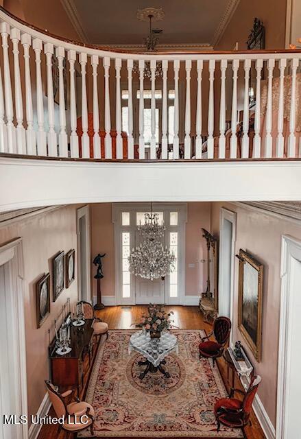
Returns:
[[[64,423],[60,425],[60,429],[64,429],[70,433],[76,433],[77,431],[90,428],[91,435],[93,436],[95,412],[92,405],[80,401],[78,398],[67,404],[66,399],[68,396],[73,396],[74,390],[67,390],[64,393],[60,393],[50,381],[45,381],[45,383],[49,399],[54,412],[56,412],[57,418],[64,416]],[[81,418],[81,416],[83,417]]]

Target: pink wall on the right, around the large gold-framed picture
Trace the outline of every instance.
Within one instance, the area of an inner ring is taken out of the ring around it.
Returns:
[[[234,322],[232,331],[234,341],[241,340],[263,381],[258,395],[276,425],[276,395],[278,371],[278,340],[280,313],[280,254],[282,235],[291,235],[301,239],[301,226],[285,219],[272,217],[260,212],[242,209],[229,203],[212,204],[211,230],[219,232],[219,212],[221,206],[237,212],[237,241],[235,252],[242,248],[254,255],[264,265],[263,271],[263,326],[262,359],[258,363],[244,342],[243,335],[237,327],[238,309],[238,270],[239,261],[235,260],[234,285]]]

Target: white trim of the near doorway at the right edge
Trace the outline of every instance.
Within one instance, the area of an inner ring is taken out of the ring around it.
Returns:
[[[296,346],[291,346],[289,332],[291,328],[291,292],[290,285],[293,276],[291,270],[291,257],[301,260],[301,241],[290,236],[282,236],[281,246],[281,300],[280,300],[280,325],[279,325],[279,346],[278,346],[278,385],[277,385],[277,416],[276,416],[276,438],[286,439],[287,418],[287,380],[289,375],[289,363],[291,351]]]

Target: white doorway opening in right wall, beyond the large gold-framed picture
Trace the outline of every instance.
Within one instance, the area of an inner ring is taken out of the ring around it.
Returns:
[[[219,224],[219,315],[232,320],[235,213],[222,208]]]

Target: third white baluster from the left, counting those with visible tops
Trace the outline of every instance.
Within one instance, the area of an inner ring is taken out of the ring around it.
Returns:
[[[34,112],[32,109],[32,80],[30,77],[30,56],[29,47],[32,44],[32,37],[29,34],[22,34],[21,43],[24,49],[25,64],[25,99],[26,99],[26,150],[28,155],[36,155],[36,134],[34,132]]]

